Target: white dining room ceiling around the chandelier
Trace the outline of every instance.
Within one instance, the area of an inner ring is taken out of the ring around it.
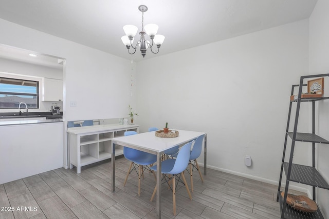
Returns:
[[[126,59],[126,24],[159,26],[158,54],[140,51],[134,61],[306,19],[317,0],[1,0],[0,18]],[[138,33],[135,42],[139,39]],[[1,42],[0,42],[1,43]],[[1,50],[1,48],[0,48]]]

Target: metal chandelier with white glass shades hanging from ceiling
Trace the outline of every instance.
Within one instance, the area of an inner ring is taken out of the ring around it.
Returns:
[[[159,48],[163,43],[163,41],[165,40],[165,36],[160,34],[156,35],[156,32],[158,31],[159,28],[158,25],[156,24],[148,24],[145,25],[144,27],[144,12],[148,11],[148,7],[146,7],[145,5],[140,5],[138,7],[138,10],[142,12],[142,30],[139,32],[140,39],[137,42],[136,46],[133,46],[134,36],[136,35],[138,28],[134,25],[125,25],[123,26],[125,36],[121,37],[122,43],[128,49],[129,54],[134,54],[136,52],[137,46],[140,47],[140,52],[142,53],[143,57],[145,56],[146,50],[148,48],[151,49],[151,52],[156,54],[159,52]],[[145,32],[149,35],[152,43],[150,43],[150,41],[147,41],[145,39]],[[158,48],[157,51],[153,51],[154,45]],[[132,48],[133,52],[131,52],[130,48]]]

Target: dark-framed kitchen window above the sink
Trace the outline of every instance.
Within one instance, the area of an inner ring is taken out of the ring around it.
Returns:
[[[39,81],[0,77],[0,109],[18,109],[21,102],[39,108]]]

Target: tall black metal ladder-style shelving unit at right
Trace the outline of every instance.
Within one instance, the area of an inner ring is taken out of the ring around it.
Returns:
[[[307,86],[304,83],[304,79],[306,78],[315,78],[315,77],[329,77],[329,74],[317,74],[317,75],[307,75],[300,77],[299,85],[293,85],[291,88],[291,95],[294,95],[294,89],[298,87],[298,99],[294,99],[294,101],[290,101],[289,104],[289,113],[288,113],[288,122],[284,140],[284,147],[283,147],[283,155],[282,155],[282,164],[281,164],[281,172],[280,172],[280,180],[279,180],[279,188],[278,188],[278,195],[277,195],[277,202],[280,203],[280,211],[281,211],[281,219],[312,219],[312,218],[324,218],[321,214],[320,210],[318,209],[316,212],[313,213],[306,213],[299,210],[296,210],[290,207],[287,201],[287,194],[288,194],[288,187],[289,182],[297,182],[302,183],[305,185],[309,185],[313,187],[313,200],[315,201],[315,189],[329,189],[329,184],[325,182],[324,178],[315,168],[315,144],[329,144],[328,140],[318,136],[315,134],[315,102],[322,101],[323,99],[328,99],[329,97],[312,97],[312,98],[301,98],[302,96],[302,88],[303,86]],[[312,133],[299,133],[297,132],[297,125],[298,125],[298,117],[300,111],[301,102],[311,102],[312,103]],[[291,106],[293,104],[297,104],[296,106],[296,115],[295,115],[295,124],[294,124],[294,131],[289,132],[289,124],[290,124],[290,116],[291,116]],[[289,161],[285,162],[285,154],[286,154],[286,147],[287,147],[287,139],[288,137],[291,138],[291,149],[289,155]],[[293,156],[294,156],[294,149],[296,142],[309,142],[312,143],[312,166],[305,166],[293,163]],[[281,196],[281,182],[282,182],[282,175],[283,172],[286,176],[286,184],[284,188],[284,196]]]

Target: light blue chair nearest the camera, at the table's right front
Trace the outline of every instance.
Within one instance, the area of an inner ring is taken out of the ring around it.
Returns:
[[[167,183],[173,191],[173,213],[175,216],[176,216],[176,185],[175,185],[176,184],[176,182],[175,182],[176,175],[178,175],[177,184],[178,184],[178,182],[182,182],[185,184],[185,187],[189,194],[190,200],[192,200],[192,195],[190,193],[189,186],[187,185],[187,182],[186,182],[186,179],[184,176],[184,170],[187,168],[187,166],[189,164],[191,145],[192,145],[192,142],[189,142],[189,143],[185,144],[184,146],[182,146],[177,154],[176,159],[167,159],[165,161],[162,161],[162,163],[161,163],[162,180],[166,181],[163,183]],[[156,168],[157,168],[156,165],[153,167],[150,167],[150,169],[154,170],[154,171],[156,171]],[[180,176],[182,177],[182,181],[180,180]],[[169,183],[170,181],[172,181],[172,186],[170,186],[170,183]],[[153,190],[151,202],[153,201],[155,193],[156,193],[156,186]]]

